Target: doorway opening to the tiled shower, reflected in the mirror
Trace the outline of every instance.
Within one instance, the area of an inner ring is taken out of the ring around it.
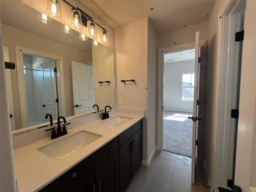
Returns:
[[[23,54],[24,82],[28,126],[42,124],[48,120],[45,114],[58,117],[56,61]]]

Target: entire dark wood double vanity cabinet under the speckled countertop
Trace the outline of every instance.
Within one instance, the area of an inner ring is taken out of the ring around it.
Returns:
[[[123,192],[142,161],[142,120],[40,192]]]

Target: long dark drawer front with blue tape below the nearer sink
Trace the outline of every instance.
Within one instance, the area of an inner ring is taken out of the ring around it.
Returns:
[[[82,160],[76,166],[66,171],[53,182],[42,188],[40,192],[71,191],[86,176],[93,172],[104,160],[118,149],[118,138],[112,139],[96,152]]]

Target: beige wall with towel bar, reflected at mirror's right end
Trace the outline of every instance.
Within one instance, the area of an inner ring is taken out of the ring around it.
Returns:
[[[102,44],[92,46],[93,60],[93,83],[94,83],[94,103],[100,110],[111,104],[111,99],[115,97],[114,84],[114,51]],[[99,83],[99,81],[110,81],[110,83]]]

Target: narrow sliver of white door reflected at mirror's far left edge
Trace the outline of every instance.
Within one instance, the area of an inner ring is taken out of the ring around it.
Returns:
[[[4,49],[4,61],[9,62],[9,51],[8,47],[3,46]],[[14,116],[14,108],[13,108],[13,100],[12,100],[12,82],[11,82],[11,74],[10,69],[5,70],[6,76],[6,86],[7,86],[7,94],[8,94],[8,104],[9,104],[9,112],[12,117],[11,121],[11,130],[15,130],[15,116]]]

